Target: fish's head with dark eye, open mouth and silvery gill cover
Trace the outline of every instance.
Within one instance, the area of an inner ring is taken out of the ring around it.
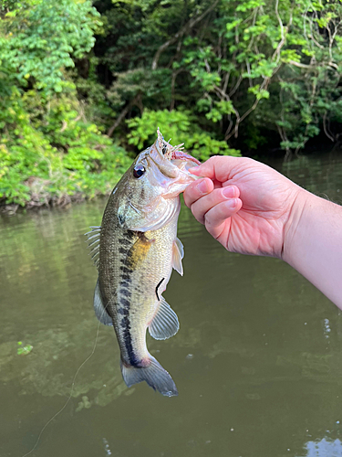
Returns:
[[[201,165],[192,155],[182,151],[181,144],[172,146],[158,129],[158,137],[142,151],[124,175],[118,210],[123,228],[156,230],[179,213],[179,195],[198,176],[189,168]],[[123,201],[122,201],[123,200]]]

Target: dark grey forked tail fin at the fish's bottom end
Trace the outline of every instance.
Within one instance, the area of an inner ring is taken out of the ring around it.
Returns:
[[[126,367],[120,361],[122,377],[126,385],[130,388],[133,384],[146,381],[150,388],[158,390],[161,395],[174,397],[178,395],[178,390],[169,373],[161,367],[161,364],[151,355],[150,365],[148,367]]]

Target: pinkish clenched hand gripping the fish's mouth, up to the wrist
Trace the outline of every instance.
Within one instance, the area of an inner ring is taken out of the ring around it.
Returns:
[[[244,157],[214,156],[191,172],[204,179],[185,189],[185,204],[214,239],[232,252],[282,257],[301,187]]]

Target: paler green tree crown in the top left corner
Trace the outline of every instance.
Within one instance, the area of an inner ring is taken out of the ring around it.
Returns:
[[[22,86],[33,79],[36,89],[63,90],[63,69],[74,67],[95,43],[94,32],[102,24],[89,0],[26,0],[5,12],[0,23],[3,71]]]

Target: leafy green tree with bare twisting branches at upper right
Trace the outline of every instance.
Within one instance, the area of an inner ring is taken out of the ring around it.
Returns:
[[[176,67],[190,71],[192,87],[202,91],[198,110],[226,128],[226,140],[249,117],[257,128],[277,129],[285,149],[298,150],[326,119],[341,121],[341,19],[340,2],[253,0],[235,7],[224,0],[201,46],[197,37],[184,39]],[[226,113],[217,110],[222,101],[230,103]]]

